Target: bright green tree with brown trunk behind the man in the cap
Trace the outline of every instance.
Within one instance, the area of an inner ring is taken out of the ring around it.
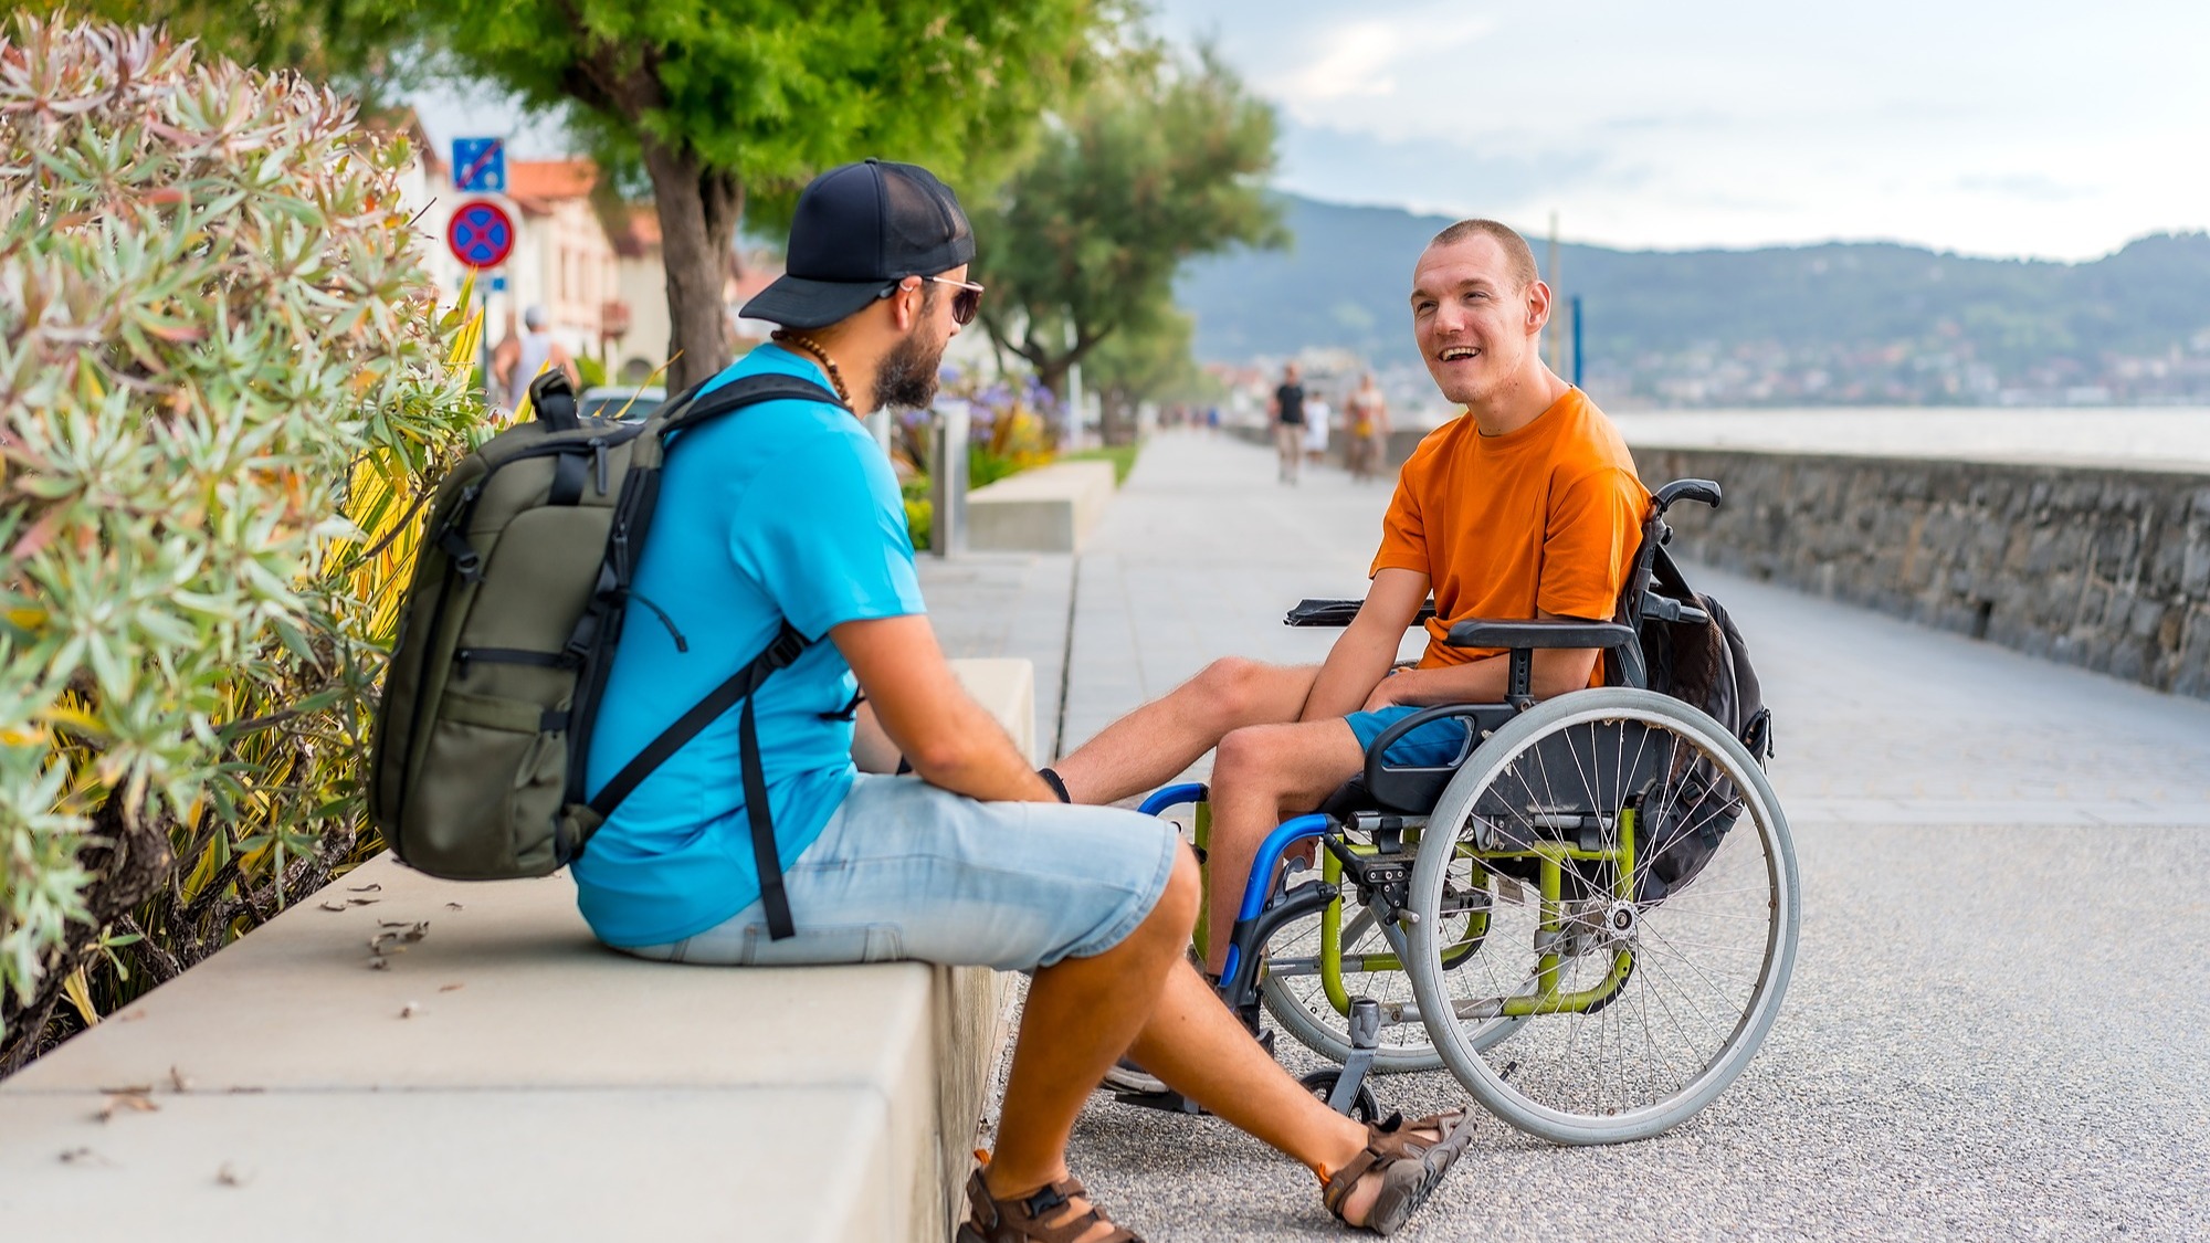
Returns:
[[[449,73],[566,108],[659,206],[685,385],[720,369],[720,279],[747,188],[884,155],[988,184],[1118,35],[1116,0],[354,0]]]

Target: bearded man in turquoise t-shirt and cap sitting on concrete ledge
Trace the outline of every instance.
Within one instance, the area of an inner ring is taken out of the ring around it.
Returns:
[[[583,916],[606,944],[667,962],[1034,971],[961,1239],[1134,1239],[1065,1166],[1120,1055],[1311,1166],[1337,1219],[1388,1234],[1463,1152],[1465,1113],[1361,1126],[1275,1066],[1185,960],[1198,869],[1174,827],[1059,805],[953,679],[922,610],[897,480],[855,416],[930,403],[946,341],[981,305],[972,254],[959,201],[908,164],[846,164],[798,199],[789,272],[743,312],[785,330],[718,380],[800,376],[842,405],[765,403],[670,447],[634,582],[665,617],[623,626],[592,790],[785,622],[827,641],[754,694],[756,754],[727,712],[621,803],[575,865]],[[919,781],[853,770],[855,681],[860,732]],[[754,759],[760,781],[740,781]],[[774,821],[765,887],[747,783]],[[796,936],[778,940],[785,911]]]

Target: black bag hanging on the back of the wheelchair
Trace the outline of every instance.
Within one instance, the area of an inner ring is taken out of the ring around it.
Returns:
[[[1644,686],[1702,708],[1741,739],[1750,756],[1764,765],[1772,754],[1772,712],[1764,703],[1750,648],[1735,619],[1717,599],[1691,591],[1664,549],[1653,557],[1649,591],[1693,604],[1708,619],[1644,617],[1640,628]],[[1741,816],[1741,801],[1728,779],[1704,756],[1693,759],[1671,785],[1677,794],[1669,798],[1669,814],[1649,825],[1635,852],[1651,860],[1635,887],[1635,896],[1644,902],[1655,902],[1695,878]]]

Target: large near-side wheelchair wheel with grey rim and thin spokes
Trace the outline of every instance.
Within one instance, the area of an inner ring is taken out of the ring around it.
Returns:
[[[1520,975],[1474,1002],[1425,916],[1461,858],[1501,876],[1478,958]],[[1795,964],[1795,847],[1764,770],[1717,721],[1649,690],[1582,690],[1459,770],[1410,909],[1412,993],[1483,1106],[1554,1143],[1646,1139],[1726,1090],[1772,1026]],[[1481,1040],[1496,1015],[1525,1017],[1509,1042]]]

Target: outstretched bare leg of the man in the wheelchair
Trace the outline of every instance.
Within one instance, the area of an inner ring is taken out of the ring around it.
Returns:
[[[1295,721],[1319,666],[1224,657],[1052,765],[1076,803],[1118,803],[1174,781],[1229,730]]]

